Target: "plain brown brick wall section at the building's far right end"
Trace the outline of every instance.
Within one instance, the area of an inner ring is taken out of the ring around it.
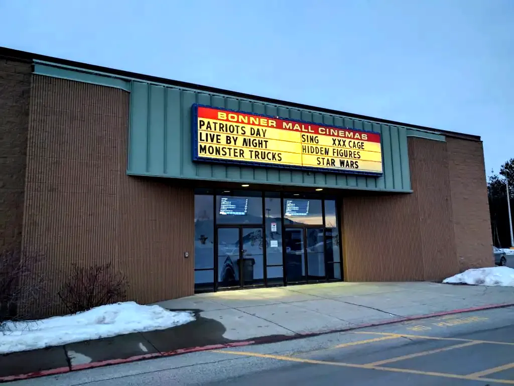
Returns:
[[[494,265],[481,142],[447,138],[457,260],[461,271]]]

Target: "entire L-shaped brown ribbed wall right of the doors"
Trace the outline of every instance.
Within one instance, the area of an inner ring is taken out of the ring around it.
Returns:
[[[458,270],[446,143],[408,141],[413,194],[343,199],[348,281],[440,280]]]

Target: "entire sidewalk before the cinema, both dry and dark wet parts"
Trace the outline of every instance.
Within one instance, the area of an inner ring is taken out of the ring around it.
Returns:
[[[0,381],[514,305],[514,288],[331,283],[198,294],[158,304],[193,310],[196,321],[167,330],[4,355]]]

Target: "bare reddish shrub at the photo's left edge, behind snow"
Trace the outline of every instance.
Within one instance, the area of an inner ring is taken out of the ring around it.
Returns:
[[[28,320],[36,314],[34,307],[45,288],[45,275],[38,269],[42,259],[27,252],[0,253],[0,330],[7,321]]]

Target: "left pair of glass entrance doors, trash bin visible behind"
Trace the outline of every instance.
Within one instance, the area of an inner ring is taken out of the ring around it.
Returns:
[[[263,235],[262,227],[218,228],[218,288],[264,284]]]

